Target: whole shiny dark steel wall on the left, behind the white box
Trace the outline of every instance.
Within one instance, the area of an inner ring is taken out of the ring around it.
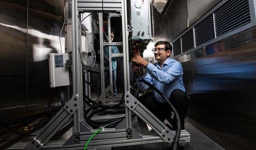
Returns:
[[[3,124],[24,133],[59,108],[57,90],[49,86],[48,54],[64,52],[64,1],[0,0],[0,149],[19,135]]]

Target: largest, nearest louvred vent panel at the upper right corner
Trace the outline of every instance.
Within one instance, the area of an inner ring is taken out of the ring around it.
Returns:
[[[250,22],[248,0],[228,0],[214,12],[216,36]]]

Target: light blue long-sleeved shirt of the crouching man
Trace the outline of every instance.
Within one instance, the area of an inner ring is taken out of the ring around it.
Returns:
[[[155,64],[149,63],[146,67],[147,73],[145,75],[145,80],[153,84],[158,88],[164,95],[169,99],[171,92],[174,89],[181,89],[185,92],[185,87],[183,84],[183,69],[179,61],[167,58],[163,63],[161,68],[159,63]],[[141,77],[136,78],[136,80],[141,79]],[[138,83],[138,87],[141,90],[146,90],[149,88],[143,82]],[[159,102],[166,102],[161,95],[154,91],[154,96]]]

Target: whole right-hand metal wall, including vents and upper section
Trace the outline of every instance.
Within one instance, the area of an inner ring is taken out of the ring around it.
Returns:
[[[183,0],[171,1],[168,13],[162,14],[162,19],[168,21],[159,26],[168,26],[167,36],[174,41],[174,56],[183,66],[183,80],[190,97],[186,119],[226,149],[255,147],[255,1],[186,0],[187,6]],[[228,3],[240,5],[227,8]],[[225,13],[214,14],[220,10]],[[217,24],[213,24],[216,17]],[[210,28],[205,26],[210,22]],[[181,37],[192,27],[199,31],[195,33],[198,44],[179,54],[183,48]],[[213,27],[219,29],[217,36],[218,29]],[[165,36],[166,30],[161,33]]]

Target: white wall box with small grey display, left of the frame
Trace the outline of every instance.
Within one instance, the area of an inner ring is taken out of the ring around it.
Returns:
[[[68,53],[49,54],[50,87],[70,85],[67,59]]]

